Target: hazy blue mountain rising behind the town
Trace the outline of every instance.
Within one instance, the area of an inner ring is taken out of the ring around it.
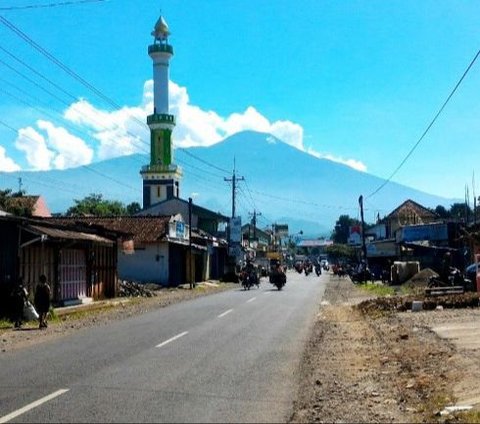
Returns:
[[[142,204],[140,168],[146,155],[130,155],[62,171],[3,173],[18,190],[18,178],[28,194],[41,194],[52,212],[65,212],[74,199],[100,193],[105,199]],[[364,199],[364,217],[373,223],[407,199],[426,207],[450,207],[458,199],[446,199],[389,182],[348,166],[319,159],[280,141],[270,134],[243,131],[209,147],[175,150],[175,162],[184,171],[180,196],[230,216],[232,177],[236,168],[236,215],[242,222],[257,214],[257,226],[289,224],[290,234],[328,236],[340,215],[360,218],[359,196]],[[6,181],[4,178],[3,181]]]

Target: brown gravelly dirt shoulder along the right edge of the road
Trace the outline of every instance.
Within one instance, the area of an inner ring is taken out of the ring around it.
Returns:
[[[368,296],[330,277],[290,422],[459,422],[440,412],[478,382],[478,367],[431,327],[471,320],[478,308],[365,313],[355,305]]]

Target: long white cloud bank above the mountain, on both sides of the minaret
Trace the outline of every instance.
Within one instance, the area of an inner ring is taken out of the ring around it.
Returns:
[[[366,171],[366,166],[355,159],[338,158],[306,148],[301,125],[288,120],[271,122],[253,106],[222,117],[214,111],[192,105],[187,89],[172,81],[169,83],[169,97],[170,110],[176,118],[173,142],[178,147],[210,146],[239,131],[253,130],[272,134],[313,156]],[[79,130],[88,132],[88,142],[64,128],[38,121],[38,130],[28,127],[19,131],[16,146],[25,152],[28,163],[37,170],[65,169],[132,153],[149,154],[150,134],[145,121],[152,111],[153,80],[148,80],[144,83],[142,102],[138,106],[106,111],[80,99],[67,108],[64,118]]]

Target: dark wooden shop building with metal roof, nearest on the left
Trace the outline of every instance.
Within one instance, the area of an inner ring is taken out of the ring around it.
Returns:
[[[119,235],[45,219],[0,217],[0,315],[20,277],[32,294],[45,274],[56,305],[116,296]]]

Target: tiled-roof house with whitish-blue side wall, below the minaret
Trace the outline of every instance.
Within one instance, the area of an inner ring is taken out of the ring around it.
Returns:
[[[220,278],[223,273],[226,242],[199,229],[190,231],[181,214],[52,220],[71,221],[77,226],[105,228],[128,235],[118,243],[118,277],[121,280],[178,286]]]

